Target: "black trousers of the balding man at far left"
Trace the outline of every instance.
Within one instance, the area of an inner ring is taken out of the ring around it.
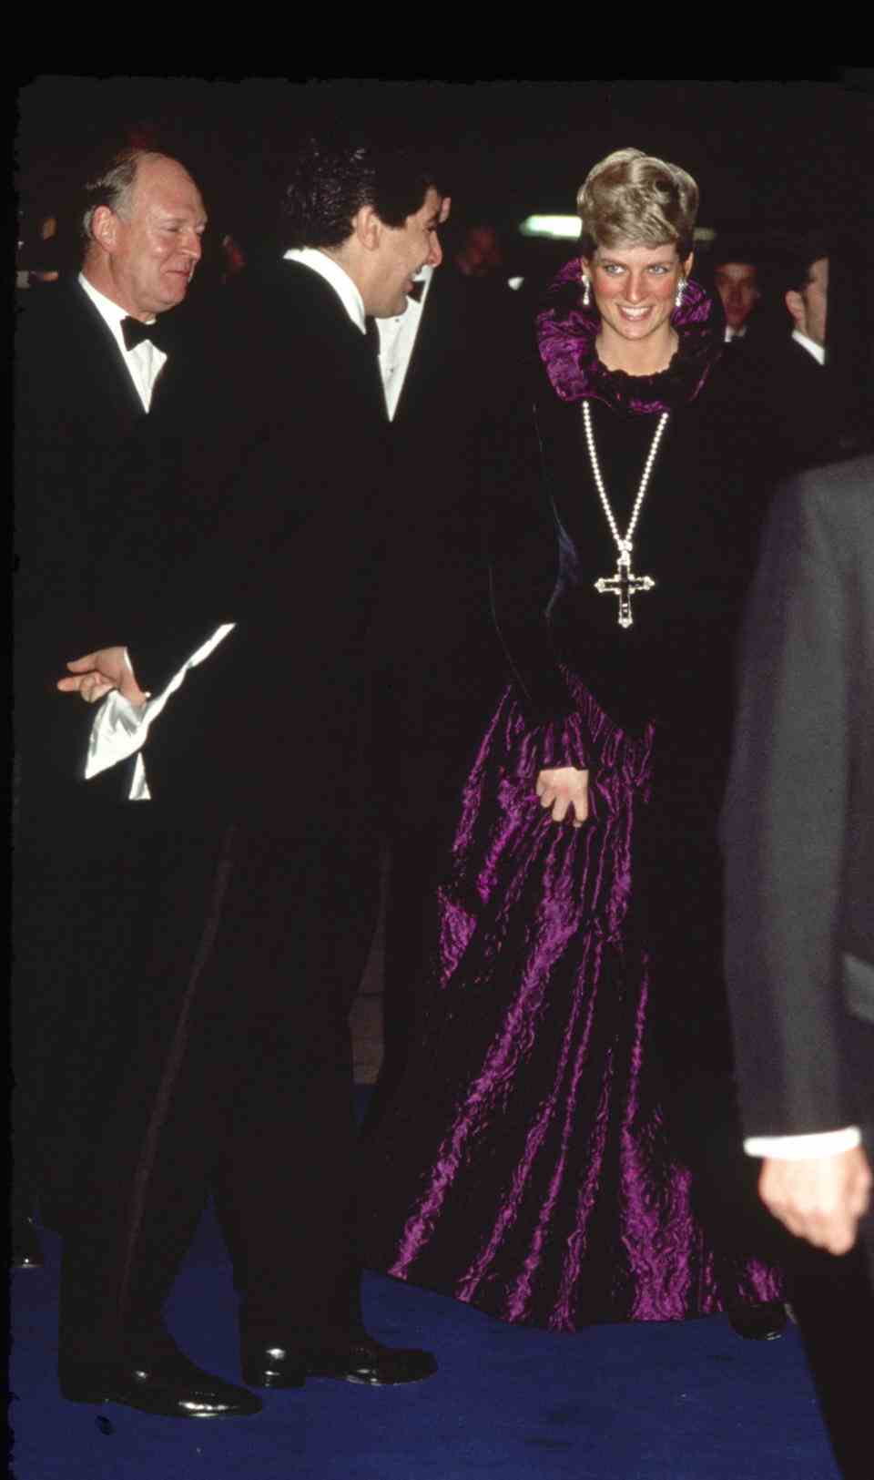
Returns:
[[[151,818],[84,784],[18,829],[12,892],[13,1203],[61,1228],[102,1123],[120,974],[155,887]],[[120,879],[124,888],[118,888]]]

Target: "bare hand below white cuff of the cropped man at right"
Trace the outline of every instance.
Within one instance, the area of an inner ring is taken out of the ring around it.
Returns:
[[[856,1242],[859,1218],[871,1197],[871,1168],[861,1146],[837,1156],[803,1162],[768,1156],[759,1194],[790,1233],[831,1254],[846,1254]]]

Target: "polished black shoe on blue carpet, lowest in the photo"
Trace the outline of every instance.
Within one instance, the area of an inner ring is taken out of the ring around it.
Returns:
[[[68,1362],[58,1365],[61,1396],[71,1403],[124,1403],[164,1418],[245,1418],[260,1399],[204,1372],[182,1353],[149,1362]]]

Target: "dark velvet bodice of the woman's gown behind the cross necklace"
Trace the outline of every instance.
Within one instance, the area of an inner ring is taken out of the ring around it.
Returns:
[[[624,534],[658,416],[590,403],[602,480]],[[741,471],[714,441],[705,398],[670,413],[633,540],[631,568],[655,586],[631,595],[630,628],[618,598],[594,582],[617,571],[580,406],[538,407],[543,477],[558,546],[549,620],[558,656],[618,722],[714,703],[750,565],[750,509]]]

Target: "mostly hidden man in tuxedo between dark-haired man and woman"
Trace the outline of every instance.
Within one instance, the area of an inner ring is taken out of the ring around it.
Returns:
[[[444,210],[448,213],[448,197]],[[368,1123],[405,1066],[433,946],[436,887],[461,784],[501,687],[482,552],[481,480],[509,374],[515,300],[427,265],[402,317],[380,320],[380,370],[398,484],[387,607],[401,613],[380,690],[389,838],[383,1040]],[[512,367],[512,369],[510,369]],[[423,777],[427,784],[423,786]]]

